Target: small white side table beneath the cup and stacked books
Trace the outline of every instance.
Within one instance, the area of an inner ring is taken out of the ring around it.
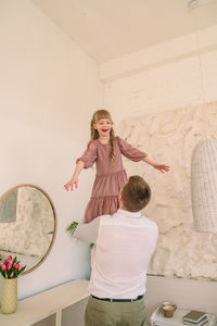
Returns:
[[[189,313],[190,310],[176,309],[174,316],[167,318],[163,315],[162,306],[158,306],[153,314],[151,315],[151,325],[152,326],[183,326],[182,316]],[[208,322],[204,326],[217,326],[217,318],[214,314],[206,314]],[[187,326],[187,325],[184,325]],[[195,324],[196,326],[196,324]]]

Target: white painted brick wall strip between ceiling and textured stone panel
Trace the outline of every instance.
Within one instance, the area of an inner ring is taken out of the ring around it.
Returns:
[[[200,48],[192,34],[102,64],[104,105],[114,122],[216,101],[217,25],[199,40]]]

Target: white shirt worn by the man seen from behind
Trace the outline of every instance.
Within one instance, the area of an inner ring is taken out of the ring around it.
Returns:
[[[75,237],[92,249],[91,294],[135,299],[145,292],[146,269],[155,250],[158,228],[141,212],[118,210],[89,224],[79,224]]]

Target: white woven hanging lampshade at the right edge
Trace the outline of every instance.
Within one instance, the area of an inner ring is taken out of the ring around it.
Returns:
[[[193,151],[191,200],[195,230],[217,233],[216,139],[205,139]]]

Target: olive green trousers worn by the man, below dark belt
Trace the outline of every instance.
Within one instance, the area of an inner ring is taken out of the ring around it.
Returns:
[[[110,302],[90,296],[85,326],[146,326],[143,299],[132,302]]]

